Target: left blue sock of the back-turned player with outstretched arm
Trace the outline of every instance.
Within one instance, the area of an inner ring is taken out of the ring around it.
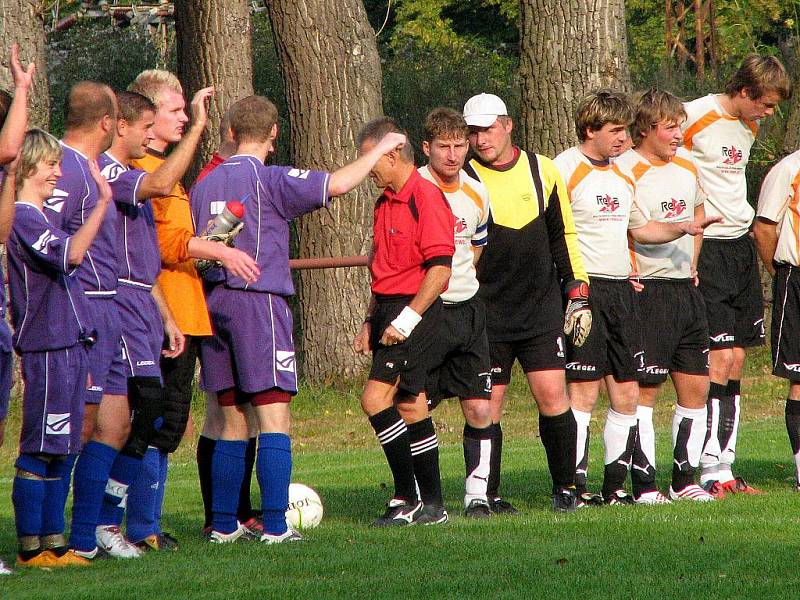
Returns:
[[[217,440],[211,459],[211,527],[220,533],[231,533],[238,527],[236,508],[239,489],[244,479],[244,453],[247,442]]]

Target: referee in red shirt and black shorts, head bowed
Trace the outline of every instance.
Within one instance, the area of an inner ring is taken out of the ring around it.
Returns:
[[[369,152],[388,133],[405,131],[386,117],[367,123],[358,135],[359,152]],[[407,142],[384,154],[370,177],[383,194],[375,203],[372,300],[354,347],[373,353],[361,407],[395,487],[386,512],[373,525],[442,523],[444,508],[425,502],[441,484],[436,431],[419,394],[434,366],[428,363],[441,320],[439,294],[450,279],[455,217],[441,190],[417,172]]]

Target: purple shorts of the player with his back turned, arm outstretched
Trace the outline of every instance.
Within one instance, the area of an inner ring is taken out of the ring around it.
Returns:
[[[200,345],[203,389],[297,393],[293,320],[281,296],[218,285],[207,295],[214,336]]]

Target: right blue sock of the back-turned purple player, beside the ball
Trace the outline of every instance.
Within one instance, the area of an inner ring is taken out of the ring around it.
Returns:
[[[285,533],[289,481],[292,478],[292,442],[288,435],[262,433],[258,436],[256,476],[261,487],[264,531]]]

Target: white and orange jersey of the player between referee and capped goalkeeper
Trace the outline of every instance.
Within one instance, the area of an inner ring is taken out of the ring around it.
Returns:
[[[489,193],[480,181],[459,173],[457,184],[448,186],[439,181],[428,166],[420,167],[420,175],[435,183],[450,203],[456,217],[453,265],[447,291],[442,294],[445,302],[464,302],[478,291],[478,278],[473,264],[474,248],[486,245],[487,221],[489,219]]]

